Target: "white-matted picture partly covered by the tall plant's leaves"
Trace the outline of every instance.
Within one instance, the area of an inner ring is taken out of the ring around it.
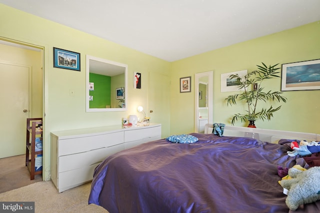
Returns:
[[[243,91],[244,88],[239,89],[238,85],[236,83],[235,79],[230,79],[230,75],[235,75],[238,74],[240,78],[244,77],[248,71],[241,70],[241,71],[235,71],[235,72],[228,72],[228,73],[223,73],[220,75],[220,87],[221,87],[221,92],[232,92],[232,91]]]

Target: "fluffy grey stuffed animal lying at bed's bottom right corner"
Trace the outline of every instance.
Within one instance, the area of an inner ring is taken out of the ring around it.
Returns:
[[[288,175],[291,179],[281,180],[279,184],[289,191],[285,204],[290,210],[295,211],[300,205],[320,200],[320,167],[305,171],[292,167]]]

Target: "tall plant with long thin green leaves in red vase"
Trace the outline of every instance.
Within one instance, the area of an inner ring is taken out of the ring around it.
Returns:
[[[229,95],[225,100],[227,105],[236,105],[236,101],[243,101],[246,104],[246,109],[243,114],[236,113],[232,117],[231,124],[234,125],[238,119],[241,122],[249,121],[248,127],[255,127],[254,121],[261,119],[270,120],[273,117],[273,113],[281,108],[281,105],[273,108],[271,105],[269,108],[265,107],[271,101],[286,102],[286,97],[282,96],[282,92],[268,92],[263,91],[261,86],[262,82],[266,79],[280,77],[278,64],[269,65],[268,67],[261,62],[262,65],[256,65],[257,70],[247,73],[244,77],[239,77],[238,74],[229,75],[230,79],[236,80],[239,89],[244,89],[242,93]],[[257,108],[259,102],[264,102],[262,108]]]

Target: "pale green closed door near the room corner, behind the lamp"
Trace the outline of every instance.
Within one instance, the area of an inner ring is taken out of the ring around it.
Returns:
[[[170,120],[170,81],[167,75],[149,73],[148,105],[152,113],[145,112],[153,123],[165,124]],[[161,132],[169,134],[170,126],[162,125]]]

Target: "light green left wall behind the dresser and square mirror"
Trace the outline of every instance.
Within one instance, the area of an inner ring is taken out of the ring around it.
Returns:
[[[170,75],[170,63],[96,36],[0,4],[0,38],[44,47],[44,179],[49,179],[50,132],[119,125],[122,117],[137,114],[136,107],[147,106],[150,73]],[[81,71],[53,68],[53,47],[80,53]],[[127,107],[125,112],[85,112],[85,55],[128,65]],[[133,89],[133,72],[142,73],[142,88]],[[70,90],[73,96],[70,96]],[[155,96],[162,96],[157,91]],[[169,102],[169,94],[164,94]],[[146,109],[147,110],[147,109]],[[169,110],[162,125],[169,127]],[[152,119],[152,118],[151,118]],[[156,120],[152,120],[156,122]],[[163,128],[162,135],[169,135]]]

